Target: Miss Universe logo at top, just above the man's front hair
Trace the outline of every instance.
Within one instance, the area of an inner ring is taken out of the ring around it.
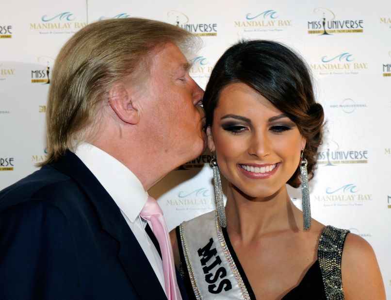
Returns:
[[[184,13],[172,10],[167,13],[171,24],[174,24],[180,28],[183,28],[195,35],[199,36],[216,36],[217,24],[216,23],[194,23],[190,22],[189,17]]]

